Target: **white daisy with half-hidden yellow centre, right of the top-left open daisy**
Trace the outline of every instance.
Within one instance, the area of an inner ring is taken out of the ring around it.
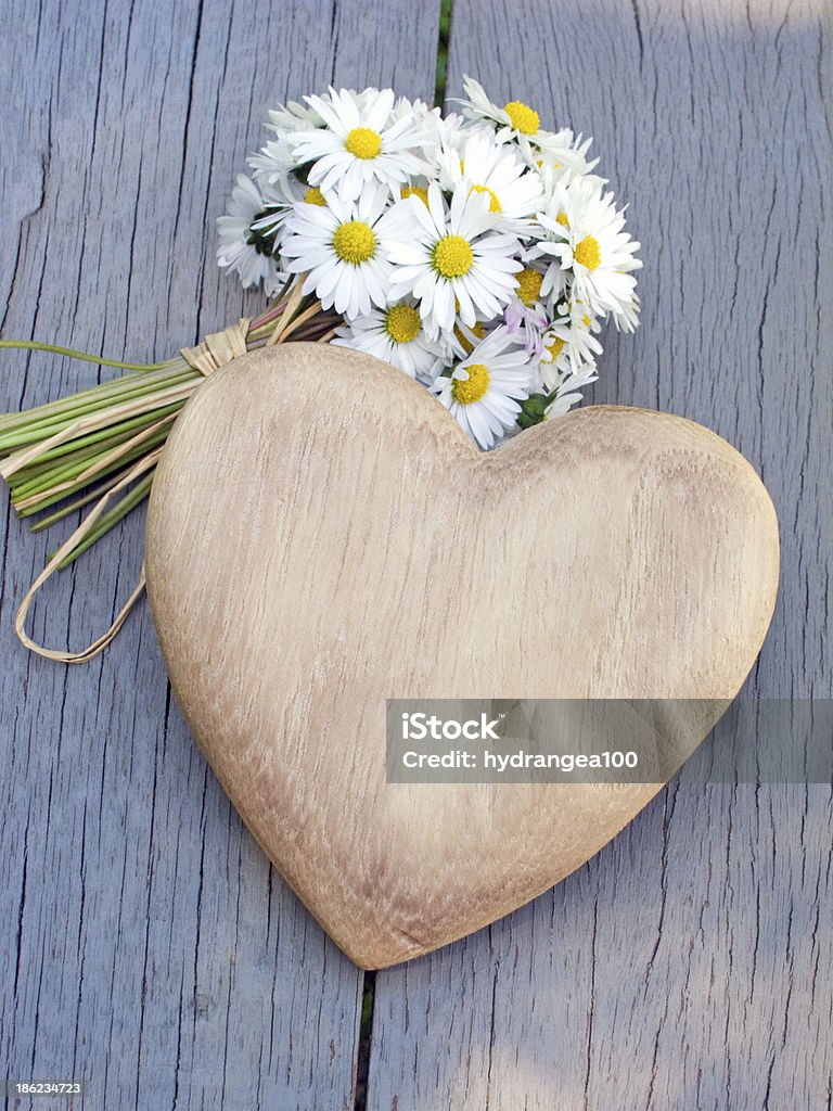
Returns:
[[[505,231],[531,233],[531,218],[544,194],[539,174],[518,157],[514,143],[495,143],[493,132],[478,128],[458,150],[439,157],[440,184],[449,192],[461,181],[489,198],[489,211]]]

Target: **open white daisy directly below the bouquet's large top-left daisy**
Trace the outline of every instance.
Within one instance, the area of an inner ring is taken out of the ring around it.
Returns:
[[[364,189],[358,200],[331,196],[327,203],[297,204],[287,221],[282,254],[294,273],[309,271],[303,292],[312,293],[323,309],[341,316],[367,317],[371,304],[389,300],[391,263],[385,232],[392,209],[379,186]]]

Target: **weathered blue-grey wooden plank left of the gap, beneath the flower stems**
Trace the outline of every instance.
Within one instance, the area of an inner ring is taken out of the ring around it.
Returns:
[[[213,221],[267,108],[331,80],[430,97],[438,10],[4,4],[3,337],[168,358],[251,314],[262,299],[218,271]],[[94,381],[87,364],[4,351],[0,403]],[[27,654],[12,614],[56,534],[30,537],[6,498],[0,512],[2,1075],[78,1077],[89,1108],[352,1108],[361,978],[195,750],[147,608],[86,668]],[[142,526],[49,584],[39,638],[78,645],[107,628]]]

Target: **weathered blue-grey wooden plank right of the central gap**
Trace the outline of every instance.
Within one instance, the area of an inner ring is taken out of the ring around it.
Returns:
[[[644,321],[608,336],[594,399],[702,421],[773,494],[747,695],[833,693],[829,22],[815,0],[453,9],[450,96],[469,72],[593,134],[631,202]],[[827,1107],[832,823],[829,788],[683,773],[551,893],[379,973],[369,1108]]]

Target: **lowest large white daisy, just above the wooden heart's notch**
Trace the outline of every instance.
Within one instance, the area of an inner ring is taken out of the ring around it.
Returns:
[[[531,384],[529,359],[496,328],[456,367],[431,387],[452,417],[484,450],[518,428],[520,401]]]

